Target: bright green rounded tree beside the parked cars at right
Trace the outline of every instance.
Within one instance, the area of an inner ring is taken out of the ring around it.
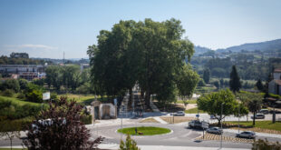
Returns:
[[[237,115],[238,107],[246,110],[244,105],[239,105],[235,95],[229,89],[213,92],[199,97],[199,110],[206,111],[209,115],[214,115],[218,119],[218,125],[222,119],[228,115]],[[247,110],[246,110],[247,111]]]

